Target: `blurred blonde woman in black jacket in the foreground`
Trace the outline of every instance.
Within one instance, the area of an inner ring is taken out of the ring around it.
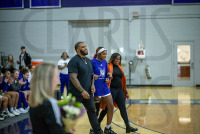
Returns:
[[[38,65],[31,79],[30,119],[34,134],[70,134],[61,122],[57,100],[53,98],[57,88],[56,66],[51,63]]]

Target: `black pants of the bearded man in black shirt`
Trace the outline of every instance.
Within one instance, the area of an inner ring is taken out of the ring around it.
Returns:
[[[97,116],[95,114],[93,95],[90,95],[90,99],[84,99],[82,96],[76,96],[76,101],[81,102],[86,108],[90,124],[95,134],[103,134],[103,131],[98,123]]]

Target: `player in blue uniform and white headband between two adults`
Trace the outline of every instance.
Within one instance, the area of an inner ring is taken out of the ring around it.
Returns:
[[[105,127],[104,134],[116,134],[111,129],[111,122],[113,117],[113,101],[111,92],[107,83],[109,82],[109,71],[106,62],[107,50],[105,48],[100,48],[97,52],[97,58],[92,59],[94,77],[98,77],[95,80],[94,86],[96,92],[94,93],[94,100],[102,100],[106,103],[107,111],[107,126]]]

